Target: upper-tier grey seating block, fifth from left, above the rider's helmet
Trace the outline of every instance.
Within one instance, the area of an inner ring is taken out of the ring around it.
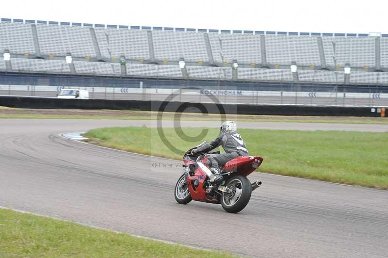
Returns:
[[[215,63],[223,62],[221,54],[227,63],[232,63],[233,60],[240,64],[261,63],[259,35],[209,33],[209,40]]]

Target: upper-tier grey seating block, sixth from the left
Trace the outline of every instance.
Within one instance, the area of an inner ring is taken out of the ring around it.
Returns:
[[[265,35],[269,64],[321,65],[317,37]]]

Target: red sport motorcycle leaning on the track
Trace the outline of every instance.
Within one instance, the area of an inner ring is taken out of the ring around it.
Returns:
[[[195,148],[206,144],[196,146]],[[259,156],[239,156],[220,168],[224,180],[219,183],[209,180],[214,175],[206,164],[208,154],[219,154],[219,149],[204,154],[192,154],[189,149],[183,156],[185,171],[175,186],[175,199],[180,204],[194,201],[221,203],[227,212],[237,213],[245,208],[252,191],[260,181],[251,183],[246,176],[255,171],[263,161]]]

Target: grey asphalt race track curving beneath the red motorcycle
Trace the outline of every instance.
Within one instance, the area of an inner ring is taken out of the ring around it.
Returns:
[[[249,257],[387,257],[387,191],[255,173],[262,187],[229,214],[176,203],[179,161],[58,135],[144,122],[0,119],[0,206]]]

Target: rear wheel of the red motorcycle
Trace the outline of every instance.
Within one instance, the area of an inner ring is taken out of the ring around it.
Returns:
[[[237,213],[245,208],[251,199],[252,185],[248,178],[235,176],[230,178],[226,185],[233,189],[232,194],[221,196],[221,205],[224,210],[230,213]]]

